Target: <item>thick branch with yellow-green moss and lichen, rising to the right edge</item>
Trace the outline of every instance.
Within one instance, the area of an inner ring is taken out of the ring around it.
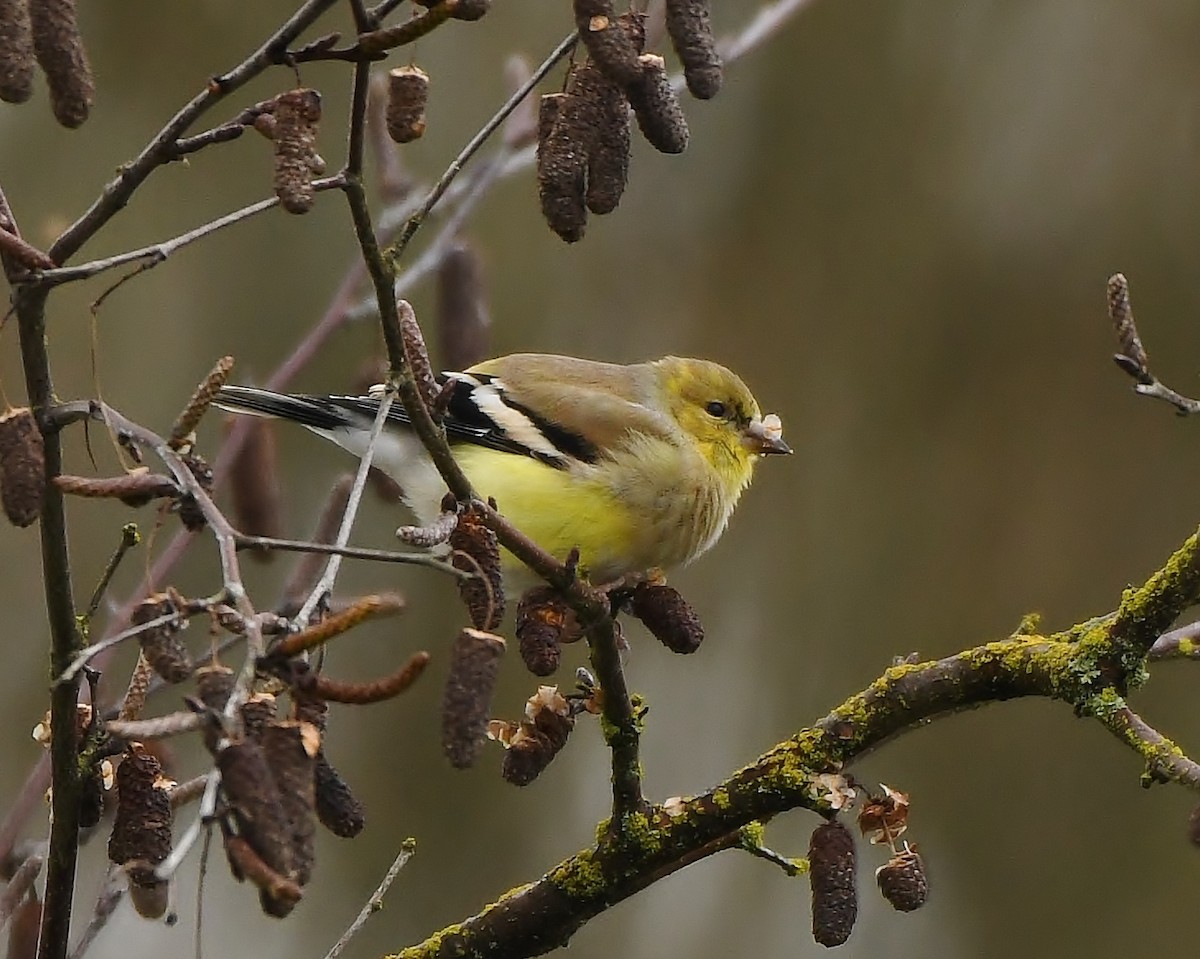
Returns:
[[[1200,765],[1134,713],[1122,693],[1145,676],[1151,631],[1165,629],[1200,598],[1198,544],[1190,537],[1145,585],[1127,591],[1115,615],[888,669],[715,789],[670,809],[652,805],[614,819],[598,831],[590,849],[397,959],[511,959],[558,948],[588,919],[659,879],[738,847],[750,823],[792,809],[830,815],[815,785],[818,774],[845,769],[902,732],[988,703],[1024,696],[1062,702],[1134,749],[1146,765],[1147,784],[1172,781],[1200,791]]]

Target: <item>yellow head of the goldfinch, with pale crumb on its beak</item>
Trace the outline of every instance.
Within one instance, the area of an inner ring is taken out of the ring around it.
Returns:
[[[667,356],[655,366],[667,410],[719,473],[744,485],[760,456],[792,451],[784,442],[779,416],[762,415],[737,373],[708,360],[679,356]]]

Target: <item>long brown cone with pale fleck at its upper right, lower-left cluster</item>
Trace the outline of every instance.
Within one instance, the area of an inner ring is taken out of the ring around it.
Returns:
[[[304,886],[312,877],[316,759],[320,733],[311,723],[276,720],[262,731],[263,753],[280,787],[283,817],[292,843],[288,879]]]

